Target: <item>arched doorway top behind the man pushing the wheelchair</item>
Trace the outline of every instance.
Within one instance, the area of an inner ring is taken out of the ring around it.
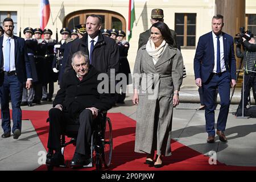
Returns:
[[[72,30],[77,24],[85,23],[86,18],[90,14],[97,14],[101,16],[102,28],[115,28],[117,30],[123,30],[126,32],[125,18],[123,18],[123,16],[119,13],[107,10],[81,10],[73,12],[66,16],[63,26]]]

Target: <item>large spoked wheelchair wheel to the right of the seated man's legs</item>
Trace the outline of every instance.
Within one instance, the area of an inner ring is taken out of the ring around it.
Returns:
[[[108,117],[106,118],[103,147],[104,148],[102,148],[103,149],[102,159],[103,159],[105,168],[109,168],[111,159],[112,159],[113,138],[112,138],[112,124]]]

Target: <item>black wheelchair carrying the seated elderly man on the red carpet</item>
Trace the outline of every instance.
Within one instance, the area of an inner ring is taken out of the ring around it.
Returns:
[[[112,138],[112,123],[110,118],[106,117],[107,111],[99,111],[98,121],[93,126],[93,133],[90,146],[89,164],[82,166],[83,168],[96,166],[96,170],[101,170],[103,167],[109,168],[112,160],[113,138]],[[49,121],[49,118],[47,119]],[[79,124],[66,125],[65,131],[61,134],[61,153],[64,155],[65,147],[69,144],[76,146],[76,137],[79,131]],[[69,142],[65,141],[65,136],[71,138]],[[49,150],[47,155],[53,155],[53,151]],[[53,166],[46,164],[47,170],[52,171]],[[59,167],[68,167],[68,162]]]

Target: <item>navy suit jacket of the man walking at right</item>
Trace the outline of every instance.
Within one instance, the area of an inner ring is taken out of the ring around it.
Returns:
[[[236,58],[234,56],[233,37],[222,32],[224,44],[224,61],[226,71],[230,78],[236,80]],[[212,31],[200,36],[197,43],[196,55],[194,58],[195,79],[201,78],[202,82],[207,82],[214,68],[214,46]]]

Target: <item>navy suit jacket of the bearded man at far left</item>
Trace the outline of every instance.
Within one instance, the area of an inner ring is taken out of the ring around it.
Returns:
[[[20,82],[32,78],[31,65],[27,55],[25,40],[13,36],[15,44],[15,69]],[[0,37],[0,67],[3,67],[3,36]],[[1,79],[2,80],[2,79]],[[1,83],[0,83],[1,84]]]

